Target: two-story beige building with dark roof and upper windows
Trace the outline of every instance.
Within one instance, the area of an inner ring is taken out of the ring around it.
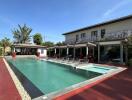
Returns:
[[[106,21],[63,34],[67,45],[91,42],[97,45],[93,55],[100,61],[125,61],[123,41],[132,35],[132,15]]]

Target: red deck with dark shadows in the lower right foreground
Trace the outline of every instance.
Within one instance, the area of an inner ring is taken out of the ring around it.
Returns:
[[[132,100],[132,68],[87,87],[80,93],[76,93],[78,90],[73,92],[56,100]]]

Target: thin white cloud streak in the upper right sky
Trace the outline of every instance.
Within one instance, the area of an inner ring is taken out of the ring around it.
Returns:
[[[112,13],[116,12],[118,9],[120,9],[123,6],[126,6],[127,4],[129,4],[130,2],[132,2],[131,0],[123,0],[121,2],[119,2],[118,4],[114,5],[112,8],[108,9],[104,14],[103,14],[103,18],[107,18],[108,16],[110,16]]]

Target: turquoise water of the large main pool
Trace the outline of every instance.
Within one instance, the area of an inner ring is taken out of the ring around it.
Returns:
[[[70,66],[36,60],[34,58],[7,59],[44,94],[64,89],[101,75],[91,71],[75,70]]]

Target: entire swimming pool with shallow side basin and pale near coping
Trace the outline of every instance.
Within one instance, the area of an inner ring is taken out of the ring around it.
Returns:
[[[85,64],[79,68],[56,60],[41,61],[26,57],[17,57],[16,60],[7,57],[6,61],[34,100],[51,100],[71,91],[77,93],[74,90],[125,70],[100,64]]]

